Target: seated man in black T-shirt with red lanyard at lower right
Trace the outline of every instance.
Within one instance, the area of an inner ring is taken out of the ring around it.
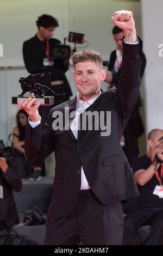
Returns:
[[[148,154],[133,162],[140,197],[124,218],[123,245],[163,245],[163,131],[149,132],[148,145]],[[145,242],[137,232],[143,225],[152,227]]]

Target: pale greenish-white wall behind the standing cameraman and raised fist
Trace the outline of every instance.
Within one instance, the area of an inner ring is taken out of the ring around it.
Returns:
[[[103,59],[109,59],[110,52],[115,48],[111,35],[114,25],[110,17],[114,11],[121,9],[133,11],[137,32],[140,34],[139,1],[0,0],[0,44],[4,48],[4,56],[0,57],[0,139],[8,143],[8,135],[15,125],[18,109],[11,105],[11,96],[21,92],[18,80],[28,74],[23,68],[22,44],[36,33],[37,17],[49,14],[59,20],[59,28],[56,29],[54,37],[61,42],[64,42],[69,31],[84,33],[89,47],[101,52]],[[1,69],[2,66],[12,68]],[[72,69],[71,67],[66,75],[73,94],[76,95]],[[106,84],[103,88],[106,88]],[[52,173],[52,166],[53,164],[49,167],[49,173]]]

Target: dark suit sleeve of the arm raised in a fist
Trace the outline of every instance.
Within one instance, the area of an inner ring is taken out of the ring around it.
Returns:
[[[115,94],[121,132],[123,132],[127,124],[139,95],[142,41],[139,39],[139,44],[137,45],[129,45],[123,42],[122,59],[122,71]]]

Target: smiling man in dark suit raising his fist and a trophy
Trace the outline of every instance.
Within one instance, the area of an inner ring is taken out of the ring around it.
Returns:
[[[106,77],[101,54],[86,49],[72,58],[78,95],[51,109],[43,132],[38,112],[40,102],[34,106],[35,99],[29,97],[19,104],[30,118],[25,141],[28,161],[35,164],[55,152],[46,245],[77,245],[79,240],[83,245],[120,245],[121,201],[139,195],[120,138],[139,94],[141,40],[136,38],[130,11],[117,11],[111,20],[123,29],[126,41],[118,89],[101,92],[101,82]],[[66,118],[67,109],[70,122]],[[84,123],[85,114],[95,114],[96,118]],[[96,129],[99,123],[102,125]],[[92,129],[87,127],[90,124]]]

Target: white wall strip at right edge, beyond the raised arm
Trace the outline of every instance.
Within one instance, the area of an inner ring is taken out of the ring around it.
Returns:
[[[162,0],[141,0],[143,48],[147,56],[145,73],[146,131],[163,129],[163,57],[159,57],[159,44],[163,43]]]

